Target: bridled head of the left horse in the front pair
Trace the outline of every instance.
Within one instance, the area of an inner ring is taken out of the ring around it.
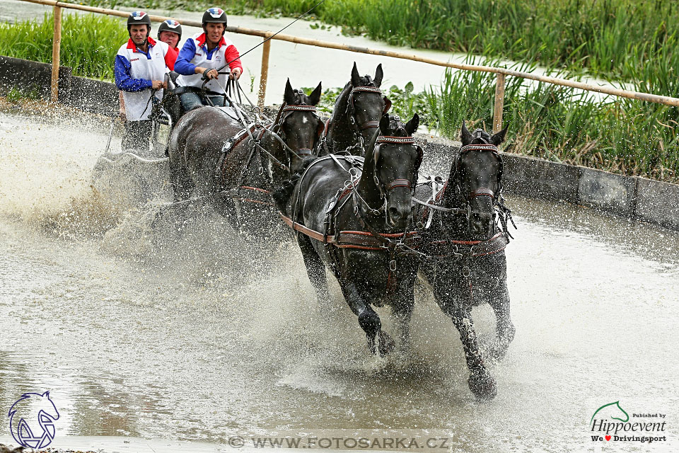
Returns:
[[[412,137],[418,126],[417,113],[406,124],[385,114],[368,144],[364,175],[372,173],[387,226],[394,230],[405,230],[412,219],[412,191],[422,164],[422,147]]]

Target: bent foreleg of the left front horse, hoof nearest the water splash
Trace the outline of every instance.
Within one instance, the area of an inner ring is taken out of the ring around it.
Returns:
[[[379,353],[380,356],[387,355],[396,347],[394,340],[382,330],[382,321],[380,316],[372,309],[370,304],[366,303],[364,297],[361,297],[356,285],[346,278],[340,278],[340,287],[344,299],[347,300],[349,308],[354,314],[359,317],[359,326],[366,333],[368,340],[368,349],[373,354]],[[377,339],[379,338],[379,348],[377,348]]]

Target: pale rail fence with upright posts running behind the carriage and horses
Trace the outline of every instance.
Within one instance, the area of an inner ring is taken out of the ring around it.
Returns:
[[[62,8],[76,9],[80,11],[88,11],[91,13],[106,14],[108,16],[120,16],[127,17],[129,12],[119,11],[117,9],[108,8],[97,8],[95,6],[86,6],[78,4],[69,4],[57,0],[20,0],[28,1],[30,3],[53,6],[54,7],[54,44],[52,47],[52,102],[57,101],[59,96],[59,46],[62,37]],[[202,24],[199,21],[185,21],[177,18],[165,17],[165,16],[151,16],[151,21],[162,22],[166,19],[175,19],[180,21],[182,25],[190,25],[195,27],[201,27]],[[260,36],[264,39],[269,38],[274,33],[271,31],[264,30],[253,30],[251,28],[242,27],[226,27],[226,30],[230,33],[240,33],[242,35],[252,35]],[[482,72],[492,72],[497,74],[497,83],[495,86],[495,104],[493,112],[493,131],[498,132],[502,125],[502,112],[504,109],[504,88],[505,88],[505,77],[515,76],[521,77],[523,79],[535,80],[540,82],[545,82],[547,84],[568,86],[571,88],[579,88],[584,91],[594,91],[596,93],[609,94],[611,96],[618,96],[622,98],[638,99],[639,101],[648,101],[653,103],[660,103],[664,105],[674,105],[679,107],[679,98],[671,98],[669,96],[658,96],[651,93],[640,93],[639,91],[629,91],[620,88],[613,88],[609,86],[596,86],[591,84],[585,84],[580,81],[572,81],[568,79],[559,79],[557,77],[550,76],[540,76],[538,74],[531,74],[529,72],[513,71],[512,69],[497,68],[490,66],[480,66],[475,64],[462,64],[462,63],[451,63],[443,62],[441,60],[420,57],[419,55],[408,54],[405,52],[394,52],[392,50],[376,50],[369,49],[368,47],[356,47],[353,45],[340,44],[338,42],[328,42],[313,40],[310,38],[300,38],[298,36],[292,35],[275,35],[271,40],[264,43],[262,49],[262,69],[260,74],[260,89],[257,95],[257,103],[260,106],[264,105],[264,98],[267,92],[267,79],[269,75],[269,51],[271,49],[272,40],[288,41],[294,42],[296,44],[312,45],[316,47],[325,47],[327,49],[337,49],[346,50],[347,52],[358,52],[369,55],[380,55],[382,57],[393,57],[400,59],[410,59],[414,62],[422,62],[428,64],[434,64],[440,67],[448,67],[453,69],[462,69],[464,71],[482,71]]]

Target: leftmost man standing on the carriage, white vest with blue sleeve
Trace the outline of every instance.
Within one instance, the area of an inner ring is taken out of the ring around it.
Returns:
[[[161,100],[165,74],[172,68],[171,54],[165,42],[149,36],[151,18],[144,11],[134,11],[127,18],[129,41],[120,46],[115,57],[115,85],[122,91],[125,134],[122,150],[149,150],[151,137],[151,98]],[[169,67],[169,69],[168,69]]]

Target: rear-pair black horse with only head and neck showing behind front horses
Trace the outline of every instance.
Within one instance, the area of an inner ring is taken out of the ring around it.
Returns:
[[[373,79],[368,75],[359,76],[354,62],[352,79],[337,96],[332,117],[327,120],[326,146],[320,156],[342,151],[354,156],[365,155],[366,144],[391,106],[391,101],[382,96],[382,78],[382,64],[378,64]]]

